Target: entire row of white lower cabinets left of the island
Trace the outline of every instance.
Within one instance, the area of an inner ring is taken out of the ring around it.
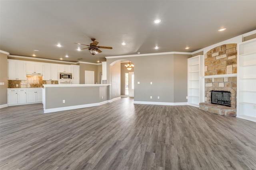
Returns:
[[[8,106],[42,102],[41,88],[9,88]]]

